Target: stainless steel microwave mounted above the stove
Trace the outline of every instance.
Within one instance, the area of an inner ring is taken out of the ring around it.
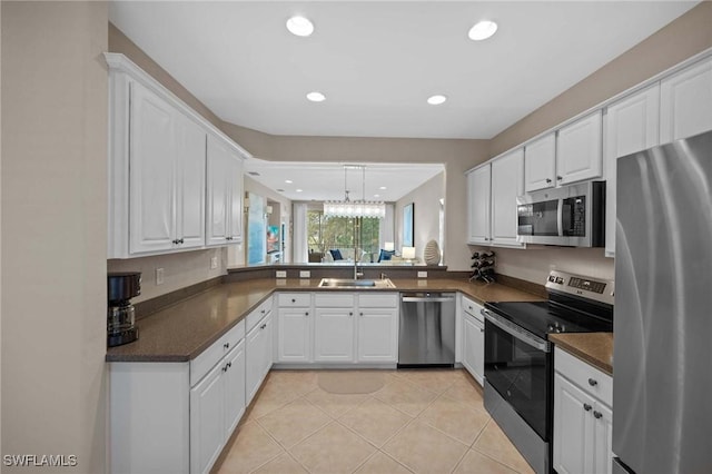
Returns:
[[[544,189],[520,196],[516,203],[520,241],[605,246],[605,181]]]

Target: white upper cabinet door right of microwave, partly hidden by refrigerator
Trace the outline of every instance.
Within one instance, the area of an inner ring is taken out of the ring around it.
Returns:
[[[660,85],[611,105],[605,116],[605,255],[615,256],[616,160],[659,144]]]

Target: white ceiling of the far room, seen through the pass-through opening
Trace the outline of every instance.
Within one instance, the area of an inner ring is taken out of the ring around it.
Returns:
[[[345,172],[344,165],[365,166],[365,172],[356,169]],[[245,172],[250,178],[291,200],[340,200],[348,189],[352,200],[365,197],[365,200],[396,201],[444,170],[443,165],[424,164],[245,161]],[[260,176],[251,176],[255,171]],[[287,179],[293,182],[285,182]]]

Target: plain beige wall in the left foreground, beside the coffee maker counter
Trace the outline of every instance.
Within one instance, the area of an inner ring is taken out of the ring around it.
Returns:
[[[100,473],[107,3],[3,1],[1,9],[1,451],[73,454],[79,465],[62,472]]]

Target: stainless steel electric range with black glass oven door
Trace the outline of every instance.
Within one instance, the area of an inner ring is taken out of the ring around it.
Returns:
[[[613,330],[613,282],[554,270],[548,300],[487,303],[485,408],[537,473],[552,472],[554,353],[548,334]]]

